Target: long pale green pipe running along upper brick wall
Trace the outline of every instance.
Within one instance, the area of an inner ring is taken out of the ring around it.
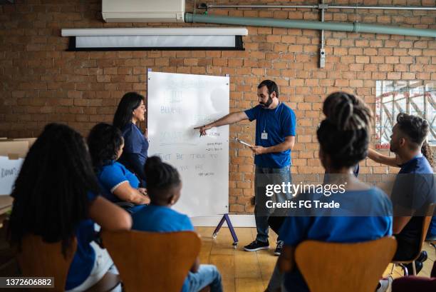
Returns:
[[[400,34],[402,36],[436,37],[436,29],[413,29],[410,27],[381,26],[378,24],[360,24],[359,22],[321,22],[292,19],[267,19],[261,17],[231,17],[206,14],[185,14],[185,21],[206,24],[234,24],[243,26],[272,26],[287,29],[316,29],[328,31],[352,31],[370,34]]]

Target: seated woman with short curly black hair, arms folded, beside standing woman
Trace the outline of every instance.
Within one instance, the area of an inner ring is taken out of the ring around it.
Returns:
[[[117,162],[123,146],[121,131],[109,124],[95,125],[88,136],[89,152],[98,181],[103,186],[103,195],[134,212],[141,205],[150,203],[150,199],[145,188],[139,188],[137,177]]]

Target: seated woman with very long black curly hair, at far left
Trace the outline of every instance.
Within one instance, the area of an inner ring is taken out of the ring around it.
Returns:
[[[48,124],[16,178],[9,232],[11,243],[18,246],[32,234],[48,243],[61,241],[64,254],[76,237],[66,291],[85,291],[112,271],[108,251],[93,242],[98,239],[95,223],[110,231],[132,225],[130,215],[98,196],[99,191],[81,134],[65,125]]]

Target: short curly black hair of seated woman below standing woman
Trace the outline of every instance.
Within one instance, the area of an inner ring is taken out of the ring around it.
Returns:
[[[93,126],[88,135],[88,148],[94,170],[98,172],[102,166],[115,160],[122,145],[123,134],[117,127],[105,123]]]

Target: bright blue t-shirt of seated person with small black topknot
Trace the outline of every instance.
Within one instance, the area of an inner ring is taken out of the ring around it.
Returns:
[[[150,232],[194,231],[190,218],[165,206],[145,206],[132,215],[132,229]],[[187,278],[182,292],[188,290]]]

